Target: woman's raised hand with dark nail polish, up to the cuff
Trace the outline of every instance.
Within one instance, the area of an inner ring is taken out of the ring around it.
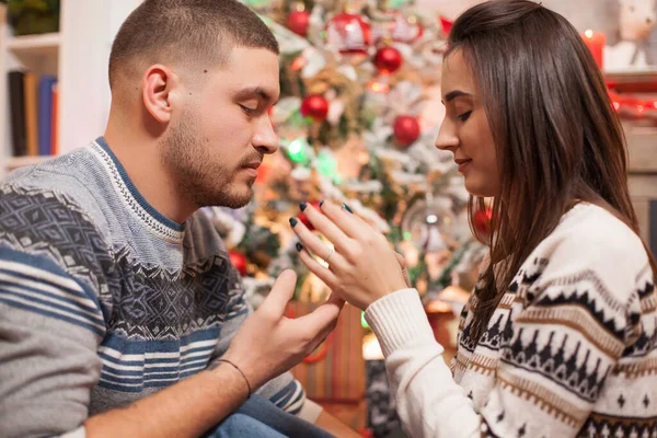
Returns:
[[[326,201],[321,204],[324,215],[310,205],[301,207],[308,220],[334,245],[332,251],[301,221],[292,218],[290,224],[303,246],[301,261],[333,293],[365,310],[379,298],[408,287],[403,257],[392,251],[383,234],[351,214],[348,207],[339,208]],[[324,260],[328,267],[322,266],[310,253]]]

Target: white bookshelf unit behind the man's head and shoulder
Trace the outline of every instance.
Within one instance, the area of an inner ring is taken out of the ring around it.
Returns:
[[[116,31],[141,0],[60,0],[59,32],[13,35],[0,0],[0,180],[48,157],[12,157],[7,73],[32,71],[58,79],[58,153],[84,147],[103,134],[110,114],[110,48]]]

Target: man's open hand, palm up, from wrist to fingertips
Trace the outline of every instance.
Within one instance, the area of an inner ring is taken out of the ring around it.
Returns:
[[[312,313],[285,316],[297,275],[286,270],[258,309],[246,319],[223,356],[246,376],[253,391],[311,354],[335,328],[344,301],[335,296]]]

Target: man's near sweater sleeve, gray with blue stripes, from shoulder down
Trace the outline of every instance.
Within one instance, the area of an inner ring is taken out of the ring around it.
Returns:
[[[108,254],[83,211],[0,188],[0,436],[83,436],[105,334]]]

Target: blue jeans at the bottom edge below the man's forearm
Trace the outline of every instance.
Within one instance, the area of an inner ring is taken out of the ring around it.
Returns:
[[[331,438],[331,434],[283,411],[262,395],[254,394],[206,438],[290,437]]]

